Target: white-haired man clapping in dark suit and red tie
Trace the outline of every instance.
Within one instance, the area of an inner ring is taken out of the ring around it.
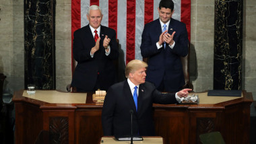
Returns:
[[[73,58],[77,66],[71,86],[77,92],[106,90],[117,80],[113,63],[119,56],[116,32],[100,25],[102,17],[100,7],[91,5],[87,14],[89,24],[73,34]]]

